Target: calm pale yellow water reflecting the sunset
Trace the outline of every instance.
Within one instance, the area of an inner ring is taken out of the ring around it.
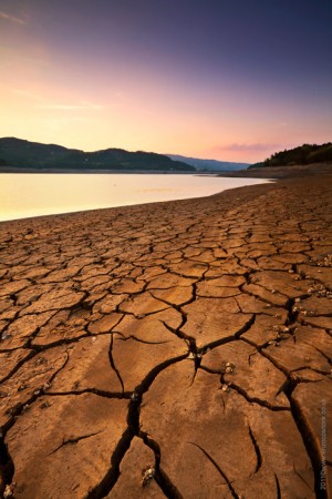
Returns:
[[[201,197],[266,182],[181,174],[2,173],[0,221]]]

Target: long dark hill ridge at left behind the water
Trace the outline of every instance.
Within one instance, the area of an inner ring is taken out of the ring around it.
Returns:
[[[102,171],[176,171],[195,172],[195,167],[173,161],[164,154],[128,152],[123,149],[106,149],[84,152],[56,144],[41,144],[15,138],[0,139],[0,172],[7,167],[24,171],[52,170],[77,172]]]

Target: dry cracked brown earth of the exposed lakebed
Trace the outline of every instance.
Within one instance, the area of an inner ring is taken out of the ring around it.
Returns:
[[[331,194],[2,223],[2,496],[331,497]]]

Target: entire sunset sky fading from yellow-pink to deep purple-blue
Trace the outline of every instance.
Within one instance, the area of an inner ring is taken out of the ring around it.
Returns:
[[[0,136],[225,161],[332,140],[331,0],[0,0]]]

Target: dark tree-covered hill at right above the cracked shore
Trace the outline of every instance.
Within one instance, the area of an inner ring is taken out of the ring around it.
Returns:
[[[299,147],[284,150],[272,154],[262,163],[252,164],[249,169],[324,163],[328,161],[332,161],[332,142],[321,145],[303,144]]]

